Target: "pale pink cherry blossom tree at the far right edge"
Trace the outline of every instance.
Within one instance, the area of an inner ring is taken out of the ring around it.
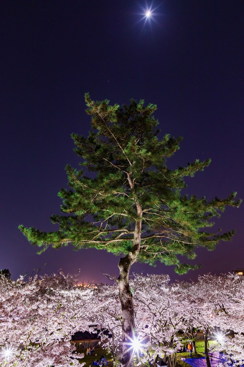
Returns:
[[[177,283],[181,297],[183,330],[195,328],[204,333],[205,357],[210,367],[209,351],[225,351],[232,361],[244,361],[244,279],[237,275],[211,274],[197,282]],[[209,347],[209,334],[217,343]]]

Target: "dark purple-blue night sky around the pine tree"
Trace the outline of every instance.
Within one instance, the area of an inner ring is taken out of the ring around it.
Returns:
[[[244,199],[243,0],[1,0],[1,252],[12,278],[60,268],[106,282],[119,258],[95,249],[49,248],[37,255],[18,225],[55,230],[65,165],[78,168],[70,134],[88,135],[83,95],[155,103],[161,137],[183,136],[170,168],[196,158],[212,163],[187,178],[184,193]],[[152,16],[144,13],[151,8]],[[236,229],[232,242],[202,248],[198,274],[244,266],[244,204],[227,208],[215,229]],[[184,260],[184,259],[183,259]],[[135,264],[132,271],[168,273],[172,266]]]

